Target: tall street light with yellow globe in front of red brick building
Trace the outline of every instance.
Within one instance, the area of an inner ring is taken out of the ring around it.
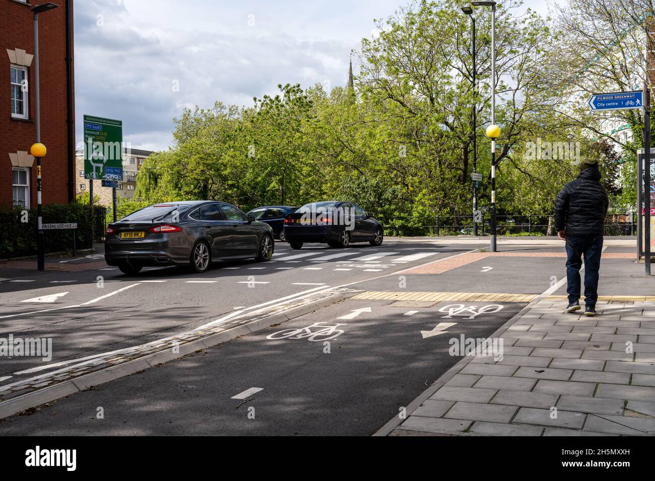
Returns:
[[[36,142],[29,149],[37,160],[37,269],[45,270],[45,252],[43,248],[42,207],[41,207],[41,158],[46,154],[45,145],[41,143],[41,103],[39,101],[39,14],[56,9],[58,5],[47,2],[34,5],[34,96]]]

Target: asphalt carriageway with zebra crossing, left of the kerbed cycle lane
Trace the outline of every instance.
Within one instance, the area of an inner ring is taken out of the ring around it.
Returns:
[[[386,240],[381,247],[331,249],[316,244],[293,251],[277,243],[271,262],[217,264],[201,275],[150,268],[126,276],[102,266],[5,277],[0,281],[0,338],[52,338],[52,360],[1,357],[0,386],[47,372],[53,363],[193,329],[236,308],[374,279],[474,247]]]

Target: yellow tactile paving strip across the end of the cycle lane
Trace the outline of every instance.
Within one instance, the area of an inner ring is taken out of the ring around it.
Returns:
[[[366,291],[357,294],[353,299],[375,299],[375,300],[416,300],[441,302],[445,300],[458,300],[466,302],[530,302],[538,294],[506,294],[506,293],[430,293],[430,292],[408,292],[388,293],[381,291]],[[610,296],[607,296],[610,298]],[[648,296],[654,297],[655,296]],[[566,298],[566,296],[548,296],[548,298]],[[600,297],[599,297],[600,299]],[[643,296],[641,297],[643,300]]]

